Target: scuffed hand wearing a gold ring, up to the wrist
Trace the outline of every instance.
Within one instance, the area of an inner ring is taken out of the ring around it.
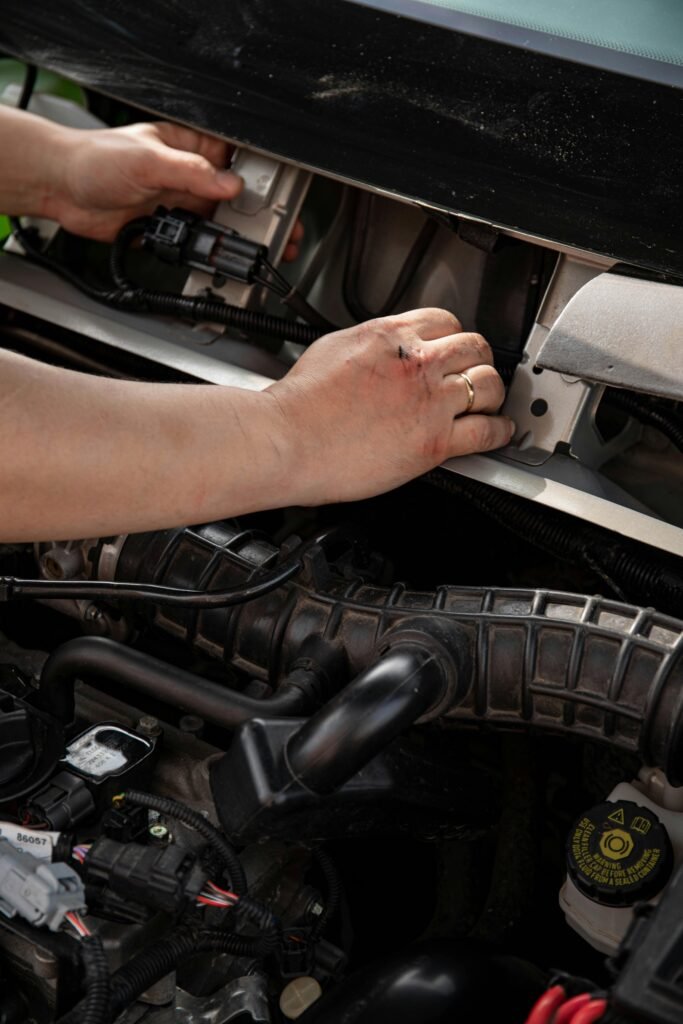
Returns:
[[[294,502],[369,498],[452,456],[510,440],[490,348],[444,309],[369,321],[321,338],[264,392],[294,450]],[[474,389],[471,412],[466,371]],[[465,415],[463,415],[465,414]],[[272,443],[278,443],[272,437]]]

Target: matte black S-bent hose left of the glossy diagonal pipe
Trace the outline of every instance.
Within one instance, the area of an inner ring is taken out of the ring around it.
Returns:
[[[129,686],[136,693],[199,715],[221,729],[236,729],[259,716],[292,718],[314,707],[318,675],[295,669],[270,697],[256,699],[185,672],[105,637],[77,637],[55,648],[40,677],[45,710],[60,722],[74,718],[74,681],[88,676]]]

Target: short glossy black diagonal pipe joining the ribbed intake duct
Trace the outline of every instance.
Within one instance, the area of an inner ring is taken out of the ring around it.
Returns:
[[[446,690],[439,657],[393,647],[308,719],[287,744],[290,771],[307,790],[332,793],[360,771]]]

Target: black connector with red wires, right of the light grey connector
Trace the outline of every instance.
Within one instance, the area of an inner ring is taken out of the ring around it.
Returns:
[[[178,911],[194,903],[209,878],[189,850],[98,839],[84,861],[89,885],[159,910]]]

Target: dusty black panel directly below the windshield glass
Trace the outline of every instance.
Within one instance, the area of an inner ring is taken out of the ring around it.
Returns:
[[[345,0],[1,0],[0,49],[324,171],[683,273],[673,87]]]

